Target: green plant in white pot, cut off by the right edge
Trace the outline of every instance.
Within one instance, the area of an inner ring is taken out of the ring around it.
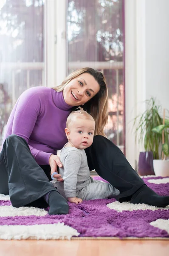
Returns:
[[[169,119],[165,119],[165,109],[163,112],[163,124],[153,128],[152,131],[162,138],[161,159],[153,160],[155,175],[169,176],[169,160],[166,159],[169,157]]]

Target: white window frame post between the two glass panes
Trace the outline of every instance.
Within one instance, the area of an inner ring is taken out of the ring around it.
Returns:
[[[66,0],[45,2],[45,83],[55,87],[66,77]]]

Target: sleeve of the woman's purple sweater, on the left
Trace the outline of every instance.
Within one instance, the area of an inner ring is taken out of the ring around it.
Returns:
[[[11,134],[16,134],[29,144],[38,116],[41,114],[41,100],[33,90],[25,91],[16,104]],[[51,153],[46,153],[29,145],[31,154],[39,164],[48,164]]]

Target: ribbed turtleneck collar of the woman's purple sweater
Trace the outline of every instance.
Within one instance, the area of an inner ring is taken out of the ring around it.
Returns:
[[[73,106],[68,105],[65,102],[65,99],[63,97],[63,91],[62,92],[56,92],[56,90],[51,88],[51,95],[54,101],[54,104],[57,108],[61,110],[69,110],[70,108],[73,108]]]

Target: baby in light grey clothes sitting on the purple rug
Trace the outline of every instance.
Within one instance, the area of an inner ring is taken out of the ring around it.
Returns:
[[[87,166],[85,148],[93,143],[95,121],[82,108],[68,116],[65,133],[68,143],[62,148],[59,168],[64,182],[57,189],[69,202],[82,203],[82,200],[116,198],[119,190],[110,183],[93,180]]]

